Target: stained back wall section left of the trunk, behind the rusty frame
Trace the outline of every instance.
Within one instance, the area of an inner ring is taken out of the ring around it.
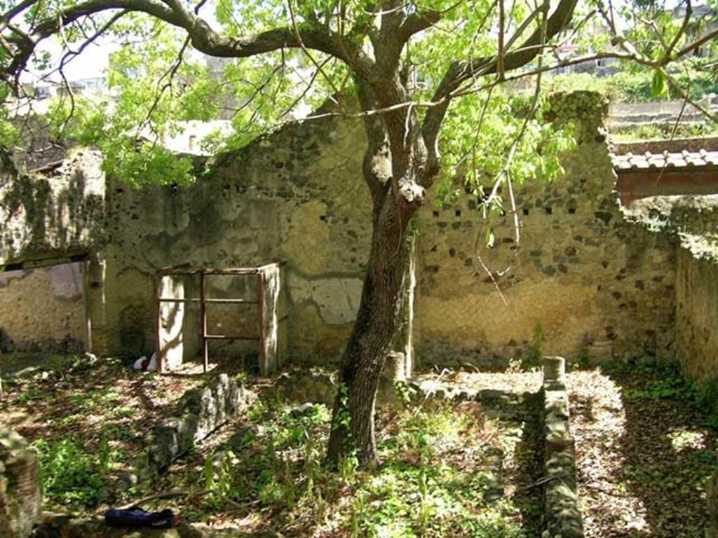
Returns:
[[[136,191],[109,179],[105,318],[93,325],[95,341],[106,349],[154,349],[159,268],[284,261],[279,318],[292,360],[338,359],[358,308],[370,243],[363,146],[360,122],[307,122],[208,162],[190,187]],[[208,295],[256,296],[253,286],[253,280],[208,278]],[[198,297],[196,285],[187,284],[185,296]],[[254,312],[210,305],[210,331],[256,332]],[[185,348],[198,349],[197,318],[189,316],[185,326]],[[187,341],[192,338],[194,344]],[[256,352],[253,343],[240,347]],[[212,342],[210,354],[224,353],[230,354],[225,344]]]

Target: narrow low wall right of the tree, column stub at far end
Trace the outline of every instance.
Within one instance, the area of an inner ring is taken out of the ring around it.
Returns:
[[[566,362],[544,359],[544,531],[546,538],[583,538],[576,485],[576,453],[569,430]]]

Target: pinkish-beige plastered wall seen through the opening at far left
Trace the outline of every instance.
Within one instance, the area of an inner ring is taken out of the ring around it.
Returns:
[[[0,352],[78,351],[86,342],[82,263],[0,273]]]

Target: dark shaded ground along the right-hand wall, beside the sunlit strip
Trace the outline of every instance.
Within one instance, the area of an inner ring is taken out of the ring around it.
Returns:
[[[717,432],[694,402],[680,394],[663,397],[661,387],[676,372],[663,369],[619,369],[609,372],[622,392],[625,430],[620,438],[624,464],[615,479],[627,494],[640,499],[643,529],[615,537],[698,538],[709,516],[704,483],[718,464]],[[670,394],[670,392],[668,392]]]

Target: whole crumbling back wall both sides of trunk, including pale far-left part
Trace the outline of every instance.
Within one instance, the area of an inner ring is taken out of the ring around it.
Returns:
[[[562,159],[559,179],[516,189],[519,244],[511,215],[486,221],[468,196],[419,211],[406,339],[413,337],[426,362],[505,365],[536,351],[569,360],[676,356],[676,308],[684,311],[676,306],[676,245],[688,239],[637,226],[621,209],[602,128],[605,103],[597,94],[556,95],[551,106],[556,122],[574,124],[577,148]],[[277,316],[286,362],[336,364],[358,309],[371,239],[364,146],[360,122],[294,124],[198,163],[190,186],[142,190],[103,179],[98,156],[80,151],[50,176],[16,178],[4,187],[3,210],[11,218],[0,224],[0,263],[89,255],[94,351],[147,354],[156,342],[161,268],[284,262]],[[488,226],[496,237],[491,248],[481,240]],[[215,283],[208,294],[256,293],[233,286]],[[196,293],[185,284],[187,296]],[[185,312],[189,350],[199,349],[197,315]],[[213,331],[257,320],[241,308],[218,308],[209,324]],[[535,334],[545,341],[537,343]],[[393,346],[411,351],[401,342]],[[251,359],[251,353],[256,349],[238,342],[210,346],[212,357]]]

